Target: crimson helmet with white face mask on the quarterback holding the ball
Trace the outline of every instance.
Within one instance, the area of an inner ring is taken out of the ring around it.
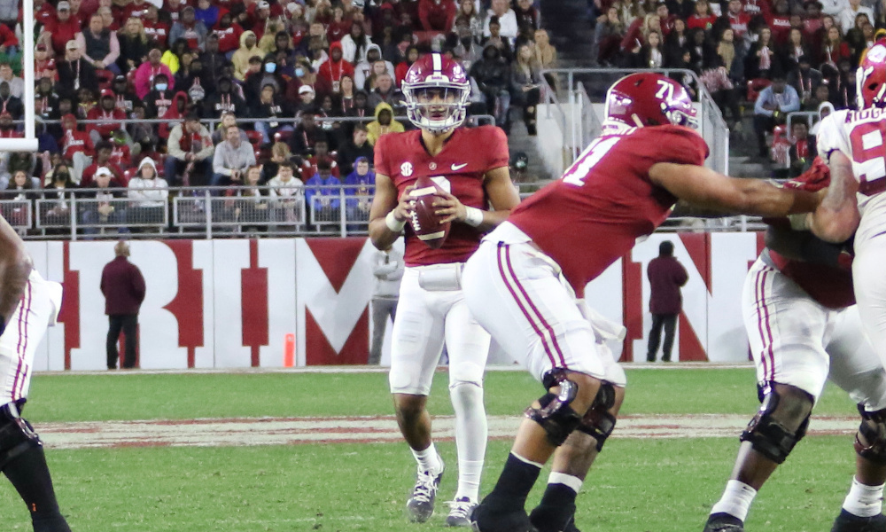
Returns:
[[[419,58],[403,79],[406,115],[422,129],[441,133],[462,125],[468,113],[470,82],[458,61],[439,53]],[[439,100],[433,101],[434,96]]]

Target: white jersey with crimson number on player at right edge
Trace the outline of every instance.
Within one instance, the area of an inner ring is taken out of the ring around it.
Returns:
[[[859,193],[870,197],[886,191],[886,109],[828,114],[819,126],[818,149],[826,160],[839,151],[852,161]]]

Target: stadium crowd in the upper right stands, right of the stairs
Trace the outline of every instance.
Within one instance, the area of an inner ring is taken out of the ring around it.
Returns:
[[[595,12],[600,65],[693,70],[732,129],[740,102],[753,107],[760,157],[792,176],[815,157],[811,122],[856,106],[859,60],[886,35],[879,0],[595,0]],[[786,124],[797,111],[819,116]]]

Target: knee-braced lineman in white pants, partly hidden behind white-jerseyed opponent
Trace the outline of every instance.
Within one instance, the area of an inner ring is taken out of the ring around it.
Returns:
[[[817,192],[829,180],[828,167],[817,158],[788,185]],[[742,433],[734,471],[704,532],[744,530],[758,490],[803,438],[826,379],[859,403],[858,442],[871,435],[870,420],[886,413],[886,371],[861,326],[848,270],[851,255],[809,231],[792,231],[787,220],[772,223],[742,297],[763,404]],[[856,450],[855,478],[833,532],[886,530],[886,467],[870,449],[857,443]]]

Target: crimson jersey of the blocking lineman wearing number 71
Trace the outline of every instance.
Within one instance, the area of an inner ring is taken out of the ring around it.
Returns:
[[[511,211],[525,232],[563,269],[576,295],[638,237],[655,231],[677,198],[649,179],[658,162],[702,165],[708,145],[680,126],[632,128],[603,135],[563,174]]]

